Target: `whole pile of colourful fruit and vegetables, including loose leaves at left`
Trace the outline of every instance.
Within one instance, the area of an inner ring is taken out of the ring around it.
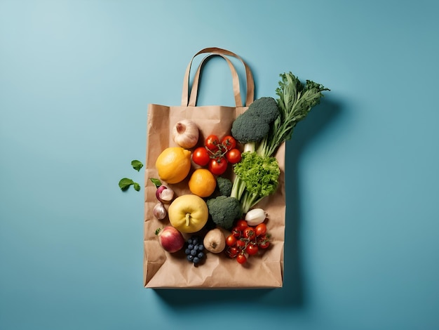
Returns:
[[[153,213],[163,221],[156,230],[163,249],[184,251],[194,265],[203,264],[210,253],[244,264],[270,249],[270,216],[257,204],[278,188],[278,147],[320,102],[323,91],[329,90],[285,73],[276,89],[278,99],[255,100],[225,136],[211,132],[201,140],[194,121],[178,121],[172,132],[178,146],[161,151],[158,178],[149,178],[156,186]],[[124,182],[124,189],[134,184]],[[191,193],[178,196],[173,185],[183,182]]]

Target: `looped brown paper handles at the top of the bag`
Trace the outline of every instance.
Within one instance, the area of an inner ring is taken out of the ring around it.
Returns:
[[[239,91],[238,75],[236,74],[236,70],[235,70],[233,64],[224,55],[233,56],[234,58],[237,58],[238,60],[240,60],[243,63],[243,65],[245,67],[245,79],[246,79],[246,85],[247,85],[247,93],[246,93],[246,98],[245,98],[245,105],[247,105],[247,106],[250,105],[253,102],[253,100],[255,99],[255,81],[253,80],[253,76],[252,76],[252,72],[251,72],[250,68],[248,67],[248,65],[244,62],[244,60],[240,56],[236,55],[235,53],[232,53],[231,51],[227,51],[225,49],[215,48],[215,47],[202,49],[201,51],[196,53],[194,55],[194,57],[191,59],[191,61],[189,62],[189,65],[187,66],[186,73],[184,74],[183,93],[182,93],[182,105],[183,106],[187,106],[187,105],[189,105],[189,103],[191,105],[195,105],[195,103],[196,103],[196,94],[198,92],[198,80],[199,80],[199,74],[200,74],[199,71],[201,70],[201,65],[203,64],[203,62],[201,62],[201,64],[199,65],[197,73],[196,73],[196,76],[195,76],[196,84],[193,84],[193,86],[196,89],[195,89],[195,91],[191,91],[191,101],[190,102],[188,102],[188,96],[189,96],[189,74],[190,74],[190,71],[191,71],[191,65],[192,65],[192,62],[193,62],[194,58],[197,55],[200,55],[202,53],[212,53],[212,55],[213,54],[221,55],[222,58],[227,60],[227,62],[229,63],[229,67],[231,68],[231,72],[232,72],[232,78],[234,79],[234,93],[235,93],[236,106],[242,105],[241,93]],[[209,57],[210,57],[210,55],[206,56],[203,59],[203,61],[206,60]],[[194,89],[194,87],[192,87],[192,89]]]

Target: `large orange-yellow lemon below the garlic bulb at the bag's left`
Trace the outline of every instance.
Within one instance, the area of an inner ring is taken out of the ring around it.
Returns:
[[[156,169],[161,180],[179,183],[191,169],[191,152],[182,147],[168,147],[158,155]]]

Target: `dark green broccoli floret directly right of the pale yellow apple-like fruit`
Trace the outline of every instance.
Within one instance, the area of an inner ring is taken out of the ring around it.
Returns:
[[[218,196],[208,199],[209,214],[219,227],[230,229],[234,220],[242,216],[241,204],[234,197]]]

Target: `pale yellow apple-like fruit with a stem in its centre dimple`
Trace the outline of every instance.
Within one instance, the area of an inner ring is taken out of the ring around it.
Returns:
[[[201,197],[184,194],[170,204],[168,216],[170,224],[180,232],[198,232],[208,222],[209,210]]]

